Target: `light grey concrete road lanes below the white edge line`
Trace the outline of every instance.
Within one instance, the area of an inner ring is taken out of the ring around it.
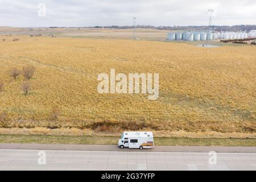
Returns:
[[[253,170],[256,154],[0,150],[0,170]],[[215,160],[216,159],[216,160]],[[45,162],[45,163],[44,163]]]

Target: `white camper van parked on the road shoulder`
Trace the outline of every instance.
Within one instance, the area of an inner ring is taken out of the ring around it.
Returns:
[[[148,131],[123,132],[121,139],[118,141],[118,147],[139,148],[141,150],[143,148],[153,148],[153,133]]]

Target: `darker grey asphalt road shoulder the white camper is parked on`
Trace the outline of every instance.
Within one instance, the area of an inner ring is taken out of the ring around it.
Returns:
[[[63,151],[125,151],[125,152],[209,152],[256,153],[256,147],[155,146],[152,149],[121,149],[117,145],[85,144],[1,144],[0,149],[63,150]]]

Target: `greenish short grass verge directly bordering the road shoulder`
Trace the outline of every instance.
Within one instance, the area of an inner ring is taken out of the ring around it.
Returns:
[[[0,135],[0,143],[40,144],[117,144],[118,137]],[[168,138],[155,137],[156,146],[256,146],[256,139]]]

